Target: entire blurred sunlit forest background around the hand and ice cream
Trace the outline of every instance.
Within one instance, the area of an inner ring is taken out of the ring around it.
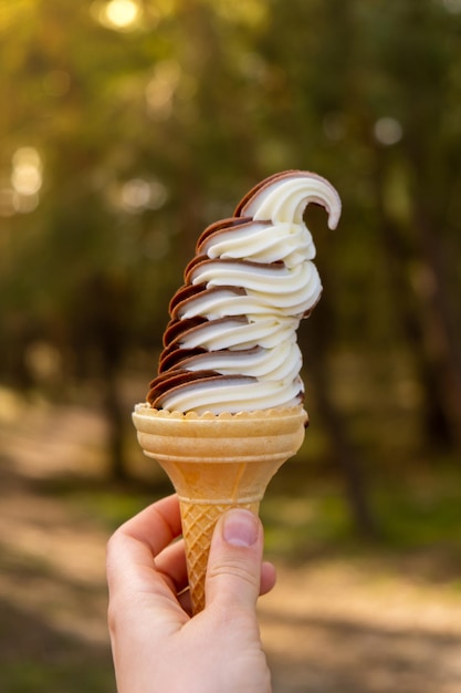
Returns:
[[[460,39],[460,0],[0,0],[2,691],[114,691],[105,541],[169,493],[130,411],[199,234],[287,168],[344,213],[262,507],[274,693],[461,690]]]

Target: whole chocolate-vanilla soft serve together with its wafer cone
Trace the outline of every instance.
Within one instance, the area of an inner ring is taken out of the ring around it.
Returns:
[[[133,412],[143,451],[178,494],[193,613],[206,603],[218,518],[234,507],[258,513],[304,441],[296,330],[322,292],[303,221],[308,203],[323,205],[335,228],[336,190],[289,170],[203,231],[170,303],[159,373]]]

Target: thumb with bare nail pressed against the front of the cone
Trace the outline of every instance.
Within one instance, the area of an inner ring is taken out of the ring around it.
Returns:
[[[254,609],[261,583],[263,529],[250,510],[228,510],[217,523],[208,559],[207,607]]]

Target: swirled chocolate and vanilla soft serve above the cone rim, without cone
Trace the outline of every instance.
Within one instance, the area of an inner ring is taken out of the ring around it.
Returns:
[[[334,229],[335,188],[312,173],[284,172],[253,188],[232,218],[203,231],[170,302],[147,396],[154,408],[220,414],[303,402],[296,330],[322,293],[303,221],[310,203],[325,207]]]

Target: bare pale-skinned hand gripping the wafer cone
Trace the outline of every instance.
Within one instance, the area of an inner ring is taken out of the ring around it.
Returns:
[[[123,525],[107,550],[108,624],[118,693],[271,693],[256,620],[275,572],[249,510],[214,529],[205,610],[190,617],[179,504],[169,496]]]

